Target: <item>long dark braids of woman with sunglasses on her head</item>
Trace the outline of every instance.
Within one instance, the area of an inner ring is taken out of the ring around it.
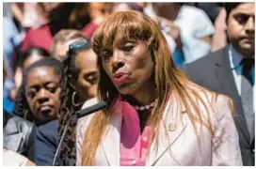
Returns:
[[[87,40],[89,40],[87,38]],[[68,83],[66,85],[65,94],[62,96],[62,104],[61,108],[58,112],[58,120],[59,120],[59,126],[58,126],[58,133],[61,135],[64,131],[65,125],[67,123],[67,120],[71,118],[72,115],[78,110],[81,109],[83,103],[85,100],[83,100],[80,95],[76,93],[73,99],[73,95],[77,91],[74,84],[72,84],[72,79],[77,79],[78,69],[75,68],[75,57],[78,53],[86,51],[90,49],[91,46],[88,43],[88,46],[82,49],[79,49],[73,53],[69,52],[68,57],[66,60],[63,61],[65,73],[68,78]],[[77,104],[73,104],[73,102]],[[76,121],[74,121],[70,126],[67,128],[67,134],[64,138],[63,146],[60,149],[60,159],[62,161],[66,161],[67,159],[72,159],[75,161],[76,158],[76,148],[75,148],[75,134],[76,134]],[[74,163],[73,163],[74,164]]]

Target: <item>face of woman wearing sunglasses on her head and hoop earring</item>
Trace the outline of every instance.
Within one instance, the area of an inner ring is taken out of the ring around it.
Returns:
[[[84,100],[96,97],[97,94],[97,55],[92,49],[78,53],[75,58],[75,67],[79,70],[76,88]]]

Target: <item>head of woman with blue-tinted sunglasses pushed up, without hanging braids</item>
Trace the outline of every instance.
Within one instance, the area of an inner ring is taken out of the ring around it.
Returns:
[[[96,97],[97,91],[97,55],[93,52],[90,39],[77,40],[70,45],[70,56],[64,61],[68,67],[71,84],[77,95],[84,101]]]

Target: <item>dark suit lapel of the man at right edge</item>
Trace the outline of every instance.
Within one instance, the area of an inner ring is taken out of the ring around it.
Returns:
[[[234,100],[235,104],[235,110],[238,115],[238,121],[237,121],[237,126],[241,129],[243,134],[245,135],[245,138],[249,142],[249,133],[247,129],[247,124],[246,124],[246,118],[244,115],[243,107],[242,107],[242,102],[240,99],[240,96],[237,91],[237,87],[234,82],[234,78],[232,75],[232,69],[230,67],[230,59],[229,59],[229,48],[226,47],[222,50],[222,54],[219,54],[218,60],[216,61],[216,79],[218,80],[220,87],[221,87],[221,92],[223,94],[226,94],[230,96]]]

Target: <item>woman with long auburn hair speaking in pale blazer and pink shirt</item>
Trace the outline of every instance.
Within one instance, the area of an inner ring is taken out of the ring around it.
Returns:
[[[92,47],[107,108],[79,119],[77,165],[242,165],[232,101],[186,79],[152,19],[114,13]]]

